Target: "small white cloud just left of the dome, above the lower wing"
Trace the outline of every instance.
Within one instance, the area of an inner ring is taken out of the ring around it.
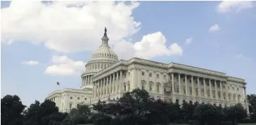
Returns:
[[[46,68],[46,74],[52,75],[80,75],[85,70],[85,62],[74,61],[66,55],[53,56],[51,59],[53,65]]]

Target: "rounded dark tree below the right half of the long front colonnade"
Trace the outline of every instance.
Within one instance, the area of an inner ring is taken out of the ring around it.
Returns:
[[[217,111],[217,108],[210,104],[198,105],[193,112],[194,119],[197,119],[201,123],[207,125],[219,121],[221,114]]]

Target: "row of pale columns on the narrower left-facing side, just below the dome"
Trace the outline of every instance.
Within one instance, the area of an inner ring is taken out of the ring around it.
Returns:
[[[124,90],[122,70],[94,81],[94,99]]]

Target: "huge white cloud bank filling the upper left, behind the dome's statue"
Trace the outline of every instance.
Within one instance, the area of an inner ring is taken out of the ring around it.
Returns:
[[[12,1],[1,9],[1,41],[44,43],[62,53],[93,51],[105,26],[111,45],[139,31],[140,22],[132,17],[138,6],[134,1]]]

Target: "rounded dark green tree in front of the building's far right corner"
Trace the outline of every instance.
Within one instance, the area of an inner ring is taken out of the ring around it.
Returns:
[[[234,125],[237,125],[238,121],[242,121],[247,117],[247,112],[241,104],[224,108],[224,113],[227,119],[233,121]]]

